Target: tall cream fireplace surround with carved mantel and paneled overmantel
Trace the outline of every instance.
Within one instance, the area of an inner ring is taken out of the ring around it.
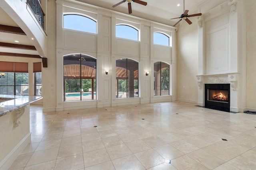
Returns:
[[[243,1],[227,0],[198,18],[198,106],[205,84],[230,84],[230,112],[246,111],[244,10]]]

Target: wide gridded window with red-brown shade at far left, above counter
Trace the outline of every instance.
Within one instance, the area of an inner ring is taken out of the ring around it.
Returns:
[[[0,61],[0,94],[28,96],[28,63]]]

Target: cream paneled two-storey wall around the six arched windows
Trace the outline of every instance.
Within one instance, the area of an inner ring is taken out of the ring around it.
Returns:
[[[164,61],[170,64],[170,70],[172,70],[170,77],[175,77],[172,65],[172,53],[175,51],[171,47],[153,44],[153,33],[159,30],[169,35],[173,42],[172,34],[175,34],[173,27],[96,6],[88,6],[82,2],[57,0],[56,3],[58,21],[56,25],[57,110],[173,100],[172,96],[154,97],[154,62]],[[70,12],[87,15],[97,20],[97,34],[63,29],[62,14]],[[116,38],[116,24],[118,23],[138,28],[140,41]],[[71,53],[82,53],[97,59],[98,98],[96,101],[63,102],[63,56]],[[121,58],[133,59],[139,63],[139,98],[116,99],[116,60]],[[105,74],[105,70],[109,70],[109,73]],[[150,72],[150,76],[146,76],[145,72]],[[171,91],[174,91],[175,87],[172,85],[173,82],[170,80]],[[51,110],[52,107],[46,106],[44,109]]]

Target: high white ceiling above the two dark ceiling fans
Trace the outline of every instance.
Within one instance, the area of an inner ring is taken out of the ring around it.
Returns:
[[[102,8],[107,8],[110,10],[114,10],[117,12],[122,12],[124,14],[128,14],[128,3],[124,2],[115,8],[112,8],[114,4],[121,2],[121,0],[77,0],[80,2],[85,2],[87,4],[92,4],[95,6],[100,6]],[[156,21],[160,23],[164,23],[166,25],[174,25],[179,19],[170,20],[170,18],[180,17],[181,14],[184,13],[185,10],[189,10],[188,14],[197,14],[203,13],[200,11],[200,7],[207,6],[211,4],[211,6],[207,7],[213,8],[218,4],[226,1],[226,0],[143,0],[147,2],[147,6],[131,2],[132,3],[132,16],[137,16],[140,18],[144,18],[151,21]],[[185,1],[185,6],[184,2]],[[177,6],[180,4],[180,6]],[[208,9],[208,10],[209,10]]]

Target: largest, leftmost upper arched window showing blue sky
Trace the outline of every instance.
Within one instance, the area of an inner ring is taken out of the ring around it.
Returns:
[[[78,31],[97,33],[96,21],[81,15],[67,14],[63,16],[63,27]]]

